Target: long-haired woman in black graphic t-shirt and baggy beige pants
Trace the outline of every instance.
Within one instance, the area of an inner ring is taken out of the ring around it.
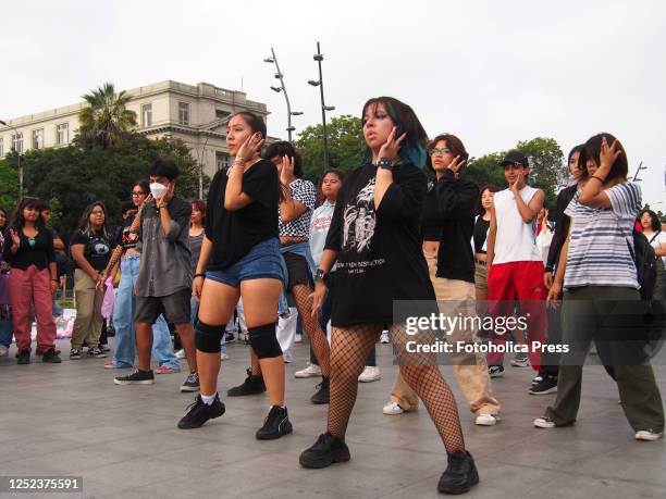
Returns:
[[[76,292],[76,321],[72,332],[70,359],[81,359],[84,341],[88,355],[107,357],[99,348],[102,328],[101,302],[103,289],[96,289],[109,263],[111,236],[107,230],[107,209],[94,202],[85,209],[70,242],[74,260],[74,290]]]

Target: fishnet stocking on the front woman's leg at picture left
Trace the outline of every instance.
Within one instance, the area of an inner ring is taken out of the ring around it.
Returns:
[[[381,325],[334,327],[331,335],[331,401],[328,429],[343,438],[358,391],[358,375],[382,333]]]

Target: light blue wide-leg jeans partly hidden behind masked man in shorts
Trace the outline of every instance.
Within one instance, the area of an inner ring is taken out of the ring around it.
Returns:
[[[119,367],[132,367],[136,358],[136,333],[134,330],[134,309],[136,299],[134,285],[138,278],[139,255],[126,257],[121,262],[121,280],[113,305],[113,362]],[[173,351],[169,325],[160,315],[152,325],[152,357],[160,367],[181,369]]]

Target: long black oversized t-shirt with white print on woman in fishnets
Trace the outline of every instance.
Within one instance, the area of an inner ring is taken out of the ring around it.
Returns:
[[[326,237],[325,249],[337,251],[336,327],[391,324],[394,300],[435,299],[420,237],[425,174],[396,165],[379,210],[375,174],[369,163],[347,175]]]

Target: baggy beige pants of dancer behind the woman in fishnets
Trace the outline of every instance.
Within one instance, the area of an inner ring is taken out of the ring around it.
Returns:
[[[437,300],[467,302],[473,311],[474,285],[465,280],[435,277],[437,255],[427,252],[423,252],[423,254],[428,262],[430,279]],[[442,304],[440,308],[442,308]],[[456,312],[452,309],[442,310],[442,313]],[[456,341],[472,342],[474,334],[474,330],[457,328],[448,336],[448,341],[454,345]],[[452,355],[452,364],[454,375],[467,400],[469,410],[474,414],[498,414],[499,402],[493,397],[485,357],[480,353],[455,353]],[[403,379],[399,372],[391,390],[391,400],[397,402],[400,408],[407,411],[416,409],[419,404],[416,392]]]

